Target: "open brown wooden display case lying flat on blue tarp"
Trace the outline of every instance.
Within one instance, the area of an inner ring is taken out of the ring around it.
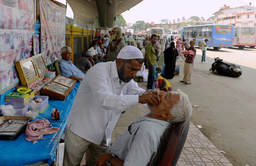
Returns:
[[[74,79],[58,75],[54,80],[46,84],[41,92],[65,100],[75,83],[76,81]]]

